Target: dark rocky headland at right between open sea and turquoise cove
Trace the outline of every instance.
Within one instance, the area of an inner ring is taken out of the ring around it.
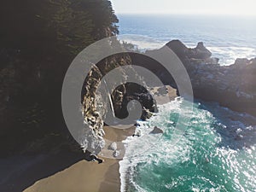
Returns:
[[[189,73],[195,98],[219,102],[222,106],[256,116],[256,58],[237,59],[235,64],[220,66],[218,58],[199,43],[194,49],[174,40],[166,44],[183,61]],[[150,67],[156,66],[154,62]],[[156,70],[156,69],[155,69]],[[162,79],[170,79],[164,71]],[[175,87],[170,80],[167,84]]]

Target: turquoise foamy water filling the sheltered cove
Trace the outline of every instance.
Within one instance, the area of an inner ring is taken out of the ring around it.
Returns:
[[[193,111],[189,104],[176,100],[138,121],[142,137],[125,140],[119,162],[122,191],[256,191],[256,119],[217,103],[195,102]],[[191,119],[173,144],[181,113]],[[148,134],[154,126],[164,134]]]

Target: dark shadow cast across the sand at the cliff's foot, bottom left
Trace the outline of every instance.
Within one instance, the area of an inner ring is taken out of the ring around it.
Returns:
[[[1,158],[0,191],[23,191],[38,180],[61,172],[80,160],[88,160],[88,157],[82,152],[60,152]]]

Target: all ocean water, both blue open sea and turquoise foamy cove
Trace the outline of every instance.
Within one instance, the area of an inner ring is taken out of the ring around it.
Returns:
[[[252,18],[119,15],[120,34],[139,49],[156,49],[172,39],[194,47],[204,42],[222,65],[256,56]],[[154,40],[152,40],[152,38]],[[256,191],[256,118],[215,102],[178,98],[159,113],[137,121],[142,137],[128,137],[119,162],[121,191]],[[181,116],[183,131],[177,130]],[[149,134],[154,126],[164,134]]]

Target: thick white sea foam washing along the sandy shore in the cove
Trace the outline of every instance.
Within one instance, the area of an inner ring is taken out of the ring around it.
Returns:
[[[178,150],[177,147],[169,148],[170,146],[168,143],[163,143],[168,146],[160,146],[161,143],[161,135],[151,135],[149,134],[150,131],[153,130],[153,127],[155,125],[165,129],[166,124],[173,125],[174,122],[163,120],[163,119],[169,119],[168,117],[164,117],[166,114],[166,111],[180,111],[180,104],[183,102],[183,100],[178,99],[169,103],[166,103],[164,105],[159,106],[160,113],[157,113],[154,115],[151,119],[148,119],[147,121],[137,121],[137,131],[141,131],[142,136],[141,137],[127,137],[123,143],[125,144],[125,157],[123,160],[119,161],[119,172],[120,172],[120,180],[121,180],[121,191],[125,192],[126,182],[128,179],[129,183],[132,183],[133,186],[137,189],[137,191],[143,192],[144,189],[140,188],[137,183],[135,183],[132,180],[132,175],[134,172],[134,168],[137,166],[138,163],[147,162],[147,161],[154,161],[154,163],[158,163],[160,161],[159,156],[152,156],[151,151],[157,151],[157,148],[166,148],[166,154],[169,154],[168,156],[165,156],[166,161],[167,158],[169,160],[174,160],[175,154],[174,152]],[[165,130],[163,130],[165,131]],[[169,143],[170,144],[170,143]],[[181,149],[181,148],[180,148]],[[183,150],[183,148],[182,148]],[[185,151],[183,151],[186,153]],[[162,151],[160,151],[162,153]],[[146,155],[143,155],[146,154]],[[171,158],[172,156],[172,158]],[[174,162],[174,161],[172,161]]]

